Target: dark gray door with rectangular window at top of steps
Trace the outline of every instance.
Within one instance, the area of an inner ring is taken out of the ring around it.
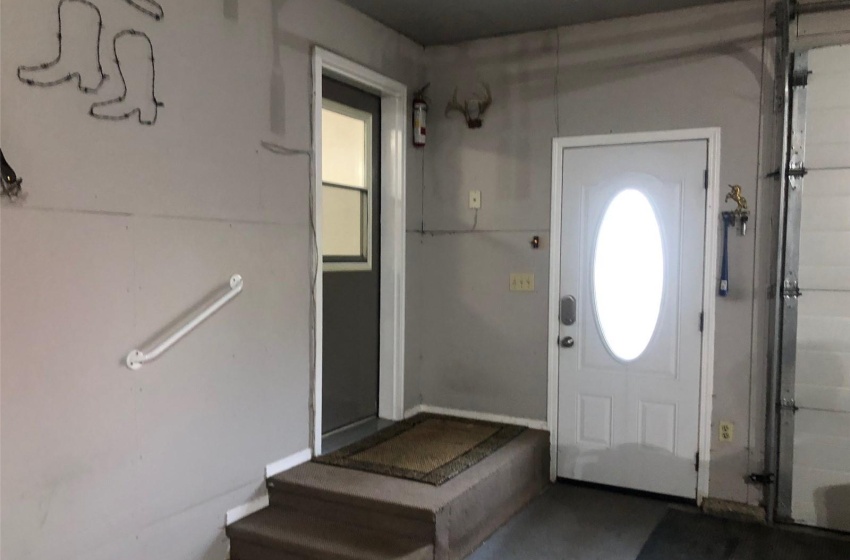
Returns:
[[[322,78],[322,437],[378,418],[381,98]]]

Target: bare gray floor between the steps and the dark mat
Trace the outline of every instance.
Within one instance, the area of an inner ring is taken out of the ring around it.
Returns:
[[[649,498],[556,484],[468,560],[635,560],[668,507]]]

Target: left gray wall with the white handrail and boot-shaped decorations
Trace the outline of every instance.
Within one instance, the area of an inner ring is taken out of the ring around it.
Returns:
[[[0,140],[29,199],[0,210],[0,556],[222,560],[224,513],[309,446],[310,168],[260,142],[310,147],[313,44],[411,88],[421,49],[332,0],[98,4],[112,78],[84,95],[17,80],[55,57],[57,0],[3,0]],[[87,115],[120,93],[125,27],[154,44],[153,127]],[[230,305],[122,365],[237,272]]]

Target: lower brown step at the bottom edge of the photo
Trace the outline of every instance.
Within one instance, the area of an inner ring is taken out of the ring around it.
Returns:
[[[227,528],[231,560],[431,560],[434,546],[380,527],[333,523],[269,507]]]

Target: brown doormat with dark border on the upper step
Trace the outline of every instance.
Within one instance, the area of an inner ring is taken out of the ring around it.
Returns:
[[[522,426],[419,414],[313,461],[441,486],[524,431]]]

